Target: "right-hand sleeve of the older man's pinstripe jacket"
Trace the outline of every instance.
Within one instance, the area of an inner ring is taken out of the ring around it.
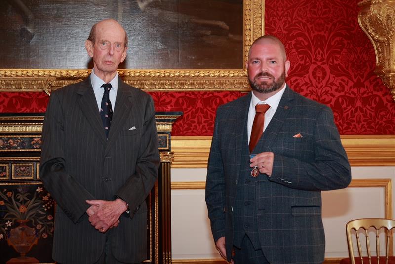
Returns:
[[[130,217],[134,216],[153,188],[158,177],[159,164],[154,102],[149,96],[144,109],[143,136],[138,149],[136,171],[115,194],[129,205]]]

